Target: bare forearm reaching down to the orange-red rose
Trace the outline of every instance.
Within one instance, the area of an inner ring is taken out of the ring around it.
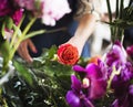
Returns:
[[[78,47],[79,56],[82,53],[85,42],[92,34],[98,20],[100,20],[100,17],[98,13],[83,14],[79,21],[79,26],[75,31],[74,36],[66,42]]]

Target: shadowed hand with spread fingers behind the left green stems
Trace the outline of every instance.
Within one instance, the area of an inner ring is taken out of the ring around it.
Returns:
[[[21,44],[18,47],[18,53],[19,55],[25,60],[28,63],[32,63],[32,57],[29,54],[29,50],[28,47],[33,52],[37,53],[37,49],[34,46],[34,44],[32,43],[32,41],[30,39],[24,40],[21,42]]]

